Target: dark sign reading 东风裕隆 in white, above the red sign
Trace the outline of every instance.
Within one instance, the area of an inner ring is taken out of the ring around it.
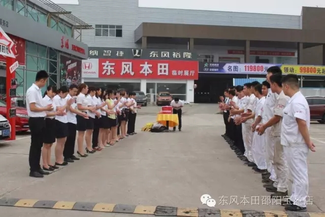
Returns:
[[[90,58],[197,60],[189,50],[89,47]]]

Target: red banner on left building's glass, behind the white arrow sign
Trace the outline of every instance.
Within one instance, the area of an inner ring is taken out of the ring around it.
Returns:
[[[16,56],[16,61],[18,61],[19,65],[25,65],[26,41],[12,34],[8,34],[8,36],[15,43],[12,47],[12,51]],[[0,62],[6,63],[6,57],[0,55]]]

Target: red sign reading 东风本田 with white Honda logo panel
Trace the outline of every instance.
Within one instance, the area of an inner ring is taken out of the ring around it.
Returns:
[[[86,59],[83,78],[198,80],[197,61]]]

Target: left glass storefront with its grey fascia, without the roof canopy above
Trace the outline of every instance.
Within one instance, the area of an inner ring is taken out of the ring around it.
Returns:
[[[80,84],[81,60],[88,57],[86,44],[3,7],[0,7],[0,20],[1,27],[15,42],[14,51],[20,65],[16,70],[19,105],[23,106],[25,92],[35,82],[39,70],[50,74],[48,85]],[[4,99],[6,66],[3,56],[0,56],[0,65],[0,94]]]

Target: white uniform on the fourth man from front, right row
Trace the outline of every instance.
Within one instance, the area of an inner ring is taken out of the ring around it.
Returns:
[[[261,97],[261,99],[257,99],[256,107],[255,107],[255,119],[258,116],[261,116],[262,108],[265,103],[265,97]],[[258,135],[258,132],[255,131],[253,133],[253,143],[252,143],[252,156],[255,164],[258,169],[266,169],[266,161],[265,161],[265,135]]]

